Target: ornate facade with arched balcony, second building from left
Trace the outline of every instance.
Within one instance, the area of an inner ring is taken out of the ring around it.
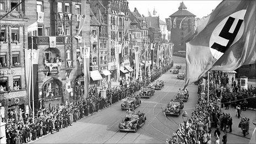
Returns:
[[[89,1],[86,1],[86,23],[81,33],[76,35],[81,4],[81,1],[74,0],[25,1],[25,14],[30,18],[28,26],[38,22],[38,30],[29,34],[28,38],[29,49],[33,38],[33,49],[40,50],[34,89],[38,107],[76,99],[74,93],[83,79],[81,47],[90,46]],[[40,16],[43,20],[39,20]],[[55,47],[50,47],[52,39]],[[71,91],[68,90],[70,88]]]

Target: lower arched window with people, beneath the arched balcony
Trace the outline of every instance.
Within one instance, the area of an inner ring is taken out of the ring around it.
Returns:
[[[45,82],[42,91],[43,97],[45,99],[60,98],[62,97],[61,82],[57,79],[52,78],[49,81]]]

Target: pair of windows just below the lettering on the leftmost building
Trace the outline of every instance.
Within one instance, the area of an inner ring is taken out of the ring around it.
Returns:
[[[20,76],[13,76],[13,90],[22,89],[21,85],[21,78]],[[7,92],[12,89],[9,89],[8,77],[1,77],[0,78],[0,93]]]

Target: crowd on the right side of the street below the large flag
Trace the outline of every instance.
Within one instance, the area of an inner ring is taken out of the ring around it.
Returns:
[[[227,74],[220,71],[211,71],[209,81],[210,96],[209,103],[207,103],[207,97],[205,96],[207,81],[203,84],[201,78],[195,84],[198,85],[198,104],[196,104],[188,121],[182,122],[179,125],[179,129],[173,133],[172,138],[167,142],[220,143],[220,134],[223,131],[222,142],[227,143],[227,133],[232,132],[232,116],[223,113],[221,107],[225,105],[226,109],[228,109],[229,105],[234,106],[234,108],[241,106],[241,110],[246,110],[248,102],[245,98],[254,96],[252,99],[255,99],[255,87],[252,88],[251,86],[248,90],[230,90]],[[242,118],[239,127],[248,134],[249,119]],[[212,128],[216,128],[214,136],[211,136]]]

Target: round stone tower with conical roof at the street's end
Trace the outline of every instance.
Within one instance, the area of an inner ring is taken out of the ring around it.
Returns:
[[[179,10],[170,15],[170,19],[172,20],[170,40],[174,44],[174,52],[186,50],[184,38],[191,28],[193,28],[195,16],[196,15],[186,10],[186,6],[183,2],[180,3]],[[181,22],[182,24],[180,25]]]

